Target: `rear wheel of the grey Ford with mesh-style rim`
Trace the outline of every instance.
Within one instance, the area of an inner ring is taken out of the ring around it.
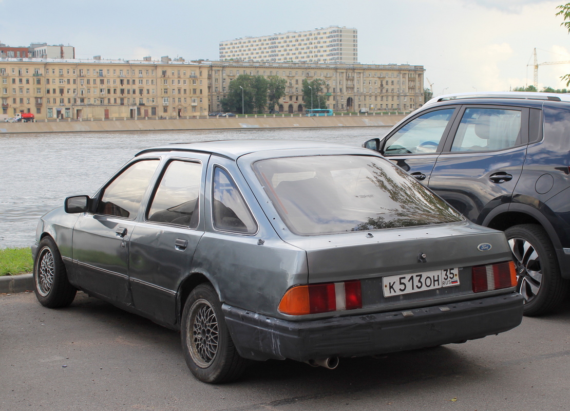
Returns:
[[[245,371],[246,360],[235,349],[211,284],[200,284],[186,299],[180,331],[186,364],[198,380],[229,382]]]

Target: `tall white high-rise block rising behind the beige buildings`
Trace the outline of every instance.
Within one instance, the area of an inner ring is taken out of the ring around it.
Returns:
[[[220,60],[245,62],[345,63],[358,61],[356,29],[330,26],[219,43]]]

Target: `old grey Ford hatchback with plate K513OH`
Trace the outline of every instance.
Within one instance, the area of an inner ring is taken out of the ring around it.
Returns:
[[[190,371],[459,343],[520,324],[511,251],[380,154],[315,141],[146,149],[39,222],[35,292],[180,329]]]

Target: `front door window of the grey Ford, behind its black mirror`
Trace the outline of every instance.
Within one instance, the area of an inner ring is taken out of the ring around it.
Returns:
[[[137,161],[124,169],[103,191],[96,213],[136,218],[159,160]]]

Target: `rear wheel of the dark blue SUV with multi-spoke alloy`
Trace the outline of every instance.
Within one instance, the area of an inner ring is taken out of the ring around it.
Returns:
[[[537,224],[505,230],[515,262],[517,291],[524,298],[524,315],[547,314],[563,302],[570,282],[560,275],[556,251]]]

